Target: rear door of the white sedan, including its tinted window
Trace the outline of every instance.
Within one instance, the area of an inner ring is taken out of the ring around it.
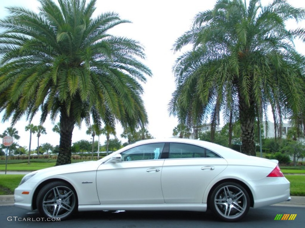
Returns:
[[[187,143],[170,143],[162,169],[165,203],[202,203],[206,186],[228,163],[211,150]]]

